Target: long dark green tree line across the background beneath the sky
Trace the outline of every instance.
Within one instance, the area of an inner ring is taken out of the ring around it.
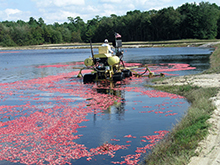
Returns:
[[[97,15],[86,23],[79,16],[67,19],[52,25],[33,17],[28,22],[0,22],[0,46],[113,41],[114,32],[120,33],[123,41],[220,38],[220,7],[209,2],[185,3],[177,9],[134,10],[123,16]]]

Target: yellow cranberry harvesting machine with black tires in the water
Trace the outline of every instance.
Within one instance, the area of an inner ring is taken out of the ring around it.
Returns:
[[[124,78],[131,77],[132,75],[140,77],[144,76],[144,73],[147,71],[149,74],[148,77],[153,76],[164,76],[162,73],[160,75],[154,75],[153,72],[147,67],[147,65],[142,65],[138,67],[145,67],[146,70],[143,74],[138,74],[135,72],[135,67],[125,67],[123,62],[123,50],[122,48],[122,40],[120,38],[115,38],[115,41],[112,44],[115,48],[115,54],[111,54],[108,51],[107,46],[98,47],[98,54],[93,53],[92,43],[90,41],[91,53],[92,57],[89,57],[84,60],[84,64],[86,67],[80,69],[77,77],[83,77],[83,83],[92,83],[98,82],[102,80],[110,80],[112,82],[122,81]],[[91,73],[82,75],[82,70],[91,69]],[[146,75],[145,75],[146,76]]]

